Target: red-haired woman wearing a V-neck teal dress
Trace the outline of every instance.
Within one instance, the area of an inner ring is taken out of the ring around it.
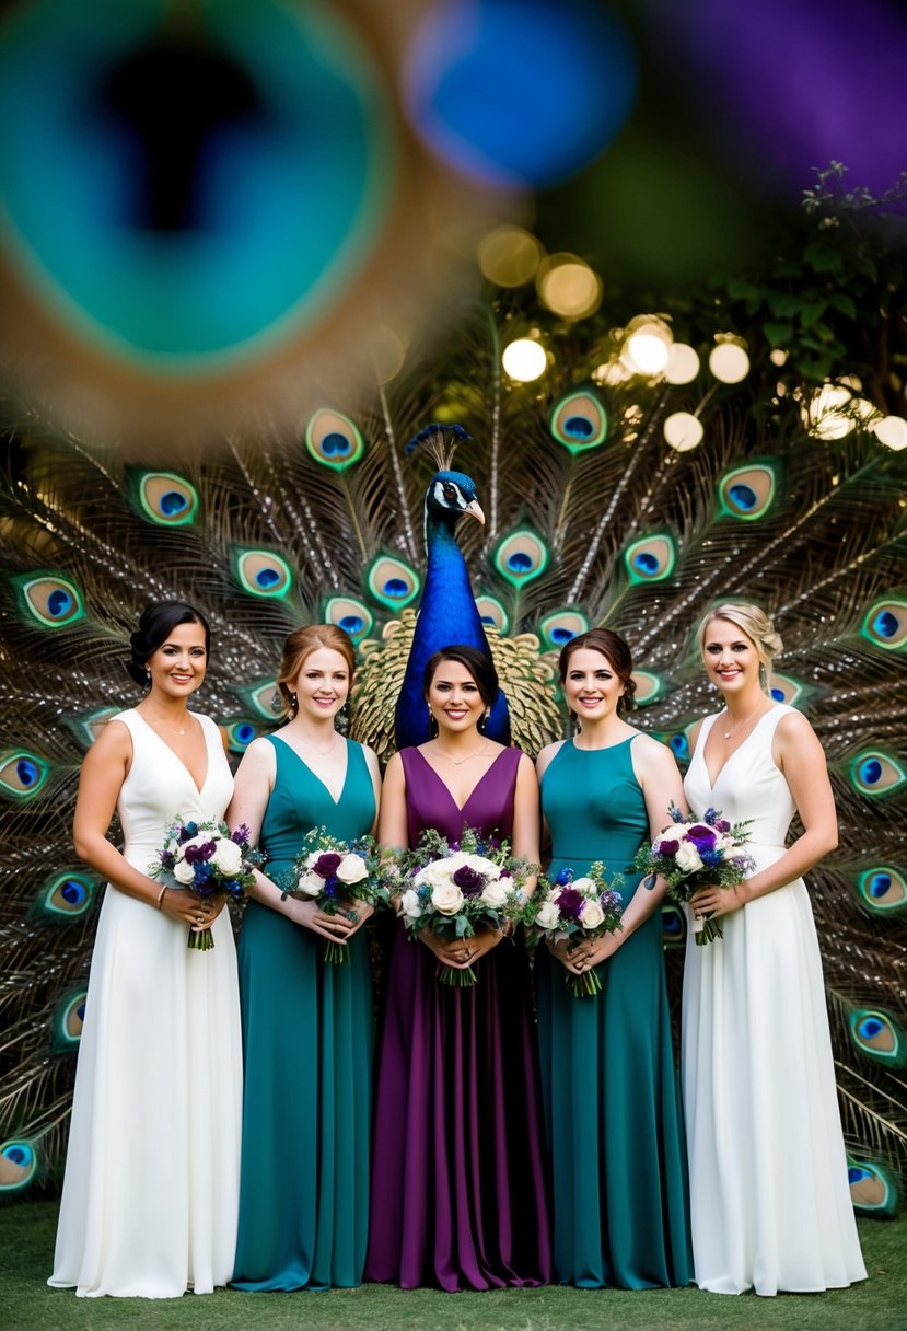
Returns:
[[[239,936],[239,1290],[355,1286],[366,1258],[371,908],[327,916],[275,885],[313,828],[343,840],[374,831],[378,761],[334,724],[354,666],[343,630],[290,634],[278,679],[290,720],[250,744],[227,811],[267,855]],[[344,964],[324,962],[324,940],[348,949]]]

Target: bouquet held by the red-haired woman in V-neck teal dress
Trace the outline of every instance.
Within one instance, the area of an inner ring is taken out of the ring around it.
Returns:
[[[356,924],[356,901],[370,906],[388,905],[390,892],[384,885],[378,844],[374,837],[340,841],[328,836],[324,828],[313,828],[293,862],[293,869],[281,884],[285,897],[314,901],[324,914],[339,914]],[[324,961],[342,966],[348,960],[344,942],[330,940],[324,945]]]

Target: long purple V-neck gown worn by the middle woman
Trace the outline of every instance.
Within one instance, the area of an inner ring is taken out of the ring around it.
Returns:
[[[418,749],[400,752],[410,844],[424,828],[509,837],[519,749],[460,809]],[[539,1067],[525,950],[509,940],[455,989],[398,924],[376,1062],[366,1279],[487,1290],[551,1279]]]

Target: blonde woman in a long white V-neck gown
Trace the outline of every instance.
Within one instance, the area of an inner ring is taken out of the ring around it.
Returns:
[[[701,948],[690,930],[684,973],[696,1279],[718,1294],[837,1288],[866,1267],[802,878],[838,841],[825,753],[806,717],[767,693],[781,639],[758,607],[712,611],[700,648],[725,709],[701,724],[686,797],[698,815],[751,819],[757,866],[693,898],[723,930]],[[794,813],[803,832],[786,847]]]

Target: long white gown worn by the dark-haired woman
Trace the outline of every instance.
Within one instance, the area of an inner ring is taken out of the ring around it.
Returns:
[[[221,819],[233,776],[214,721],[201,791],[138,712],[118,801],[124,855],[148,869],[174,816]],[[108,885],[97,926],[53,1275],[80,1295],[210,1292],[233,1274],[242,1046],[226,910],[209,952],[188,926]]]

